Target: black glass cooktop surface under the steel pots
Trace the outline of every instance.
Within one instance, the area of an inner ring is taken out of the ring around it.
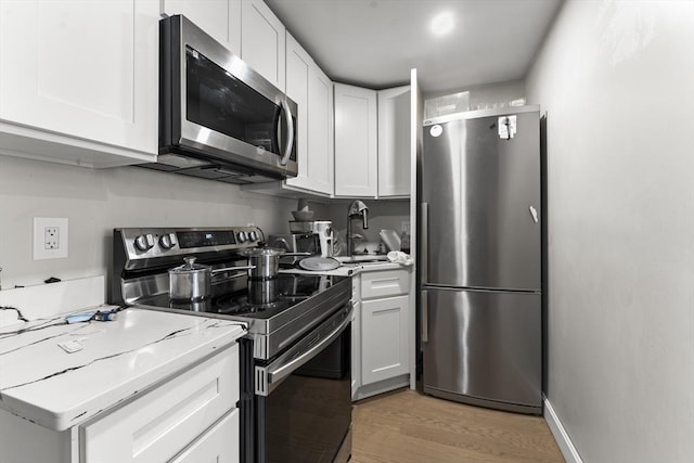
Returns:
[[[280,273],[270,280],[244,278],[236,279],[233,286],[214,285],[213,296],[203,300],[170,300],[168,294],[159,294],[139,299],[138,304],[217,316],[269,319],[345,279],[347,276]]]

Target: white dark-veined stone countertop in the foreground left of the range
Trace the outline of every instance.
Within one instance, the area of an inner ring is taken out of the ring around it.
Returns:
[[[55,314],[0,327],[0,408],[55,430],[184,371],[246,333],[234,321],[134,308],[115,321],[64,320]],[[82,350],[67,353],[59,346],[69,340]]]

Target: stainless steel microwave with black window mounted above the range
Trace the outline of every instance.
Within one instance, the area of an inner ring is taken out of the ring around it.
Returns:
[[[297,105],[182,15],[159,23],[159,155],[143,167],[230,183],[298,171]]]

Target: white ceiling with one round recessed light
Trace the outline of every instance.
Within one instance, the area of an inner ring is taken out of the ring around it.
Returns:
[[[265,0],[331,79],[426,93],[525,76],[563,0]],[[449,12],[453,30],[432,18]]]

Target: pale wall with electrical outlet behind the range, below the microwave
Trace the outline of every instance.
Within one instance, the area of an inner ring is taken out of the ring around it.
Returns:
[[[0,156],[2,287],[108,274],[117,227],[219,227],[253,222],[288,231],[296,200],[140,167],[92,170]],[[34,217],[69,219],[69,256],[33,260]]]

